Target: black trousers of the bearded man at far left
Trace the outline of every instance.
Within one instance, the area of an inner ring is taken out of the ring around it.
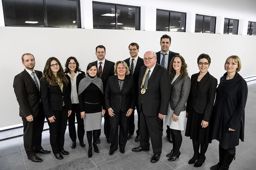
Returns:
[[[28,157],[34,156],[36,151],[42,149],[42,131],[44,128],[44,108],[42,103],[39,105],[39,111],[36,117],[33,117],[33,121],[29,122],[26,118],[22,118],[23,121],[23,141],[24,148]]]

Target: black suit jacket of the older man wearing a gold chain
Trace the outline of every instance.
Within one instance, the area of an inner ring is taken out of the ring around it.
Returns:
[[[167,115],[167,107],[170,99],[170,76],[164,66],[156,63],[156,66],[148,79],[145,94],[141,94],[141,84],[147,67],[142,66],[138,85],[138,104],[144,115]]]

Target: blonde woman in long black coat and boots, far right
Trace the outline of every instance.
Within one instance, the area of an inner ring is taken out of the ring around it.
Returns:
[[[227,71],[221,78],[217,88],[212,118],[212,139],[219,141],[219,162],[211,167],[228,169],[236,155],[239,139],[244,141],[244,108],[248,88],[242,76],[241,60],[231,55],[225,62]]]

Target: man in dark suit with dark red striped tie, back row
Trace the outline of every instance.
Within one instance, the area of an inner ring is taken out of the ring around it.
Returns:
[[[98,60],[94,61],[94,63],[97,65],[98,77],[100,77],[102,80],[103,90],[105,92],[109,77],[114,75],[115,63],[105,59],[106,48],[102,45],[99,45],[96,47],[95,54],[96,54]],[[100,134],[101,134],[101,132],[100,132]],[[104,115],[104,134],[107,138],[107,142],[110,143],[110,121],[109,121],[108,110],[106,110],[105,115]],[[97,139],[96,143],[100,143],[100,138]]]

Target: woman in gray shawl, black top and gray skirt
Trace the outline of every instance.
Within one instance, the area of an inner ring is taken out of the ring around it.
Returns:
[[[101,118],[105,114],[105,103],[102,80],[97,77],[95,63],[87,66],[87,76],[79,83],[78,99],[81,118],[84,119],[84,130],[89,144],[88,157],[92,157],[92,145],[94,151],[100,150],[96,144],[101,129]],[[93,139],[93,143],[92,143]]]

